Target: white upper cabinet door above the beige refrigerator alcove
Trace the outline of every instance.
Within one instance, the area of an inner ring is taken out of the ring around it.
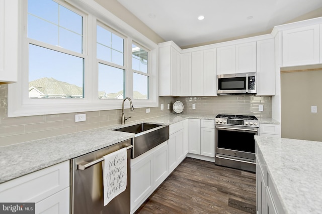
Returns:
[[[285,30],[283,35],[283,66],[318,64],[319,25]]]

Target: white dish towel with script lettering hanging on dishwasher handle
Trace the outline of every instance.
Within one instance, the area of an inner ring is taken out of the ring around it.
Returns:
[[[103,188],[104,206],[126,189],[127,151],[122,148],[104,156]]]

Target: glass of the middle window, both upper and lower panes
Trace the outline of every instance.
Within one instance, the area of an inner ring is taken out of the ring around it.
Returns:
[[[125,97],[124,39],[97,25],[96,53],[100,99]]]

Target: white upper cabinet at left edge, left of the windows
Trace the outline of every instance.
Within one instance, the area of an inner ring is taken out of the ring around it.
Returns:
[[[17,82],[18,1],[0,1],[0,84]]]

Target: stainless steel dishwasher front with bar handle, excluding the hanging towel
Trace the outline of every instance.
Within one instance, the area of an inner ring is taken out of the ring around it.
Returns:
[[[106,206],[103,199],[104,155],[127,148],[127,185],[126,190],[117,195]],[[105,147],[72,159],[71,161],[71,213],[130,213],[130,158],[131,139]]]

